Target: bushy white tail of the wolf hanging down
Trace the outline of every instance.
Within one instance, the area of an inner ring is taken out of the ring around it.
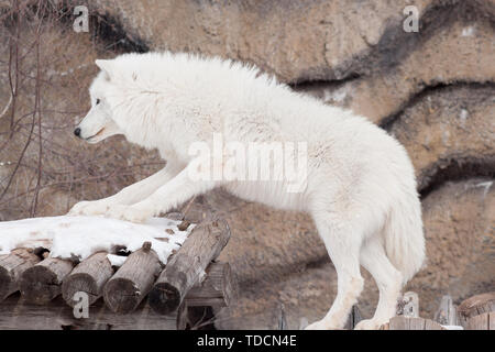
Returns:
[[[425,262],[421,205],[416,191],[407,195],[403,201],[391,209],[384,237],[387,256],[403,274],[404,285],[406,285]]]

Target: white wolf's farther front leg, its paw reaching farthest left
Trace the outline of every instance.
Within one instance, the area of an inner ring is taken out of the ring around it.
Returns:
[[[139,202],[151,194],[153,194],[161,186],[165,185],[169,179],[176,176],[180,169],[184,168],[182,165],[175,161],[168,161],[166,166],[135,184],[132,184],[123,188],[118,194],[92,201],[79,201],[76,204],[70,211],[69,216],[97,216],[103,215],[109,209],[117,207],[119,205],[132,205]]]

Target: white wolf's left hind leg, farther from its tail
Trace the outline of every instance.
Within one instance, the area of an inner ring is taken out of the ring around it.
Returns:
[[[359,260],[362,233],[352,226],[342,224],[343,218],[332,218],[333,221],[317,218],[315,221],[337,270],[337,297],[324,318],[306,328],[310,330],[342,329],[363,289]]]

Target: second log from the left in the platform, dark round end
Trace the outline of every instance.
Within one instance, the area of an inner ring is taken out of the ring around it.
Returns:
[[[61,285],[70,273],[74,263],[47,257],[22,273],[20,289],[26,301],[46,304],[61,294]]]

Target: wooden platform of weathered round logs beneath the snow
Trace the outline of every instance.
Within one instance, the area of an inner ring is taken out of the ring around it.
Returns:
[[[30,249],[0,256],[0,329],[212,328],[200,320],[228,306],[237,284],[229,264],[215,262],[227,222],[201,220],[165,266],[150,242],[119,268],[105,252],[77,265]]]

